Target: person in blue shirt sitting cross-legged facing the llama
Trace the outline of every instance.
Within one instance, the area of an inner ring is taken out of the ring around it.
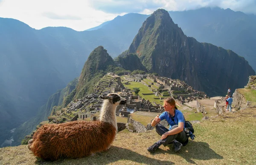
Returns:
[[[164,112],[159,116],[154,118],[151,122],[151,126],[156,127],[157,133],[161,136],[158,142],[148,147],[148,152],[153,153],[156,151],[160,145],[166,146],[171,143],[174,145],[174,151],[180,150],[182,145],[186,145],[189,142],[186,136],[185,128],[185,118],[181,111],[175,106],[175,100],[173,98],[167,98],[164,101]],[[163,119],[169,123],[169,129],[165,128],[159,122]],[[174,121],[173,121],[174,120]]]

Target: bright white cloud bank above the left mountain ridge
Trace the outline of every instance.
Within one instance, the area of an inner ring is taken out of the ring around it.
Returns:
[[[35,29],[64,26],[84,31],[118,15],[93,9],[87,0],[4,0],[0,3],[0,17],[20,20]]]

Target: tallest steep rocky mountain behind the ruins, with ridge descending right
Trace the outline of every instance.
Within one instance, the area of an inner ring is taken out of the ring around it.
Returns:
[[[163,9],[145,20],[129,53],[137,54],[148,71],[184,80],[209,96],[241,88],[255,74],[244,57],[233,51],[187,37]]]

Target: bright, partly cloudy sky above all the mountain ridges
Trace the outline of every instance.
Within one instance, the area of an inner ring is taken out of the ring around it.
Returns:
[[[0,0],[0,17],[20,20],[35,29],[64,26],[84,31],[127,13],[151,14],[159,8],[184,11],[201,7],[256,14],[256,0]]]

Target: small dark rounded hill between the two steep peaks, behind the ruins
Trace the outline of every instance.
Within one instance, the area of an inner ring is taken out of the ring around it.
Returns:
[[[145,66],[141,63],[140,59],[136,54],[125,54],[125,52],[119,55],[116,59],[116,64],[126,70],[134,71],[141,70],[147,71]]]

